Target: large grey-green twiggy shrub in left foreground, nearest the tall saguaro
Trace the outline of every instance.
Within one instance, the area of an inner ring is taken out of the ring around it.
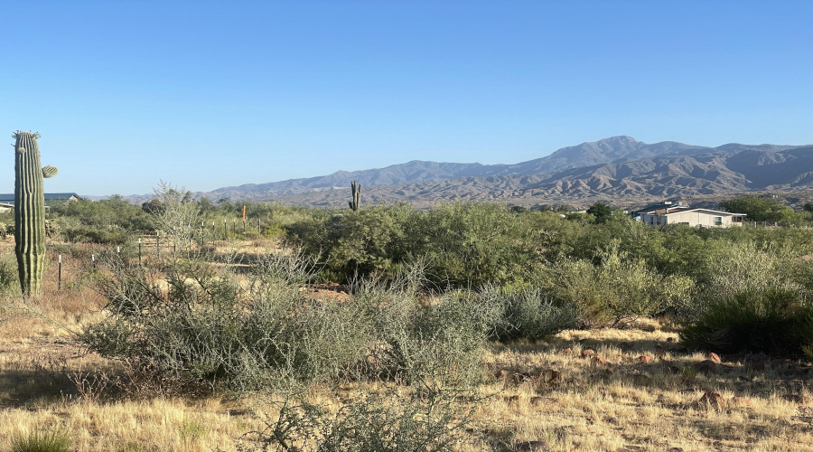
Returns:
[[[306,276],[265,265],[248,288],[195,261],[164,268],[165,288],[138,268],[113,268],[112,278],[98,281],[107,317],[81,338],[93,351],[151,369],[177,391],[338,377],[363,359],[365,306],[302,297],[291,281]]]

